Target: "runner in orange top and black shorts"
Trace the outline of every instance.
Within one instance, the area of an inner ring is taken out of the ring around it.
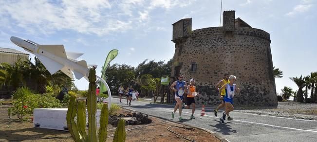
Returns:
[[[196,86],[195,86],[195,79],[192,78],[189,81],[189,85],[187,86],[187,99],[186,99],[186,108],[189,109],[189,106],[192,106],[191,109],[191,116],[190,119],[195,119],[194,117],[194,113],[195,113],[195,106],[196,106],[196,102],[195,102],[195,97],[197,96],[197,92],[196,92]]]

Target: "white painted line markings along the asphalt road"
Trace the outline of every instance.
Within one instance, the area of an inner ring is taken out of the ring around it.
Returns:
[[[132,106],[143,106],[143,105],[132,105]],[[166,108],[161,108],[161,107],[152,107],[152,106],[144,106],[144,107],[149,107],[149,108],[159,108],[159,109],[164,109],[164,110],[168,110],[168,111],[174,111],[172,109],[166,109]],[[189,113],[190,112],[186,112],[186,111],[182,111],[182,113]],[[197,113],[194,113],[195,115],[200,115]],[[215,117],[215,116],[209,116],[209,115],[204,115],[205,117],[212,117],[212,118],[219,118],[219,117]],[[266,115],[264,115],[266,116]],[[283,118],[283,117],[280,117]],[[296,119],[297,120],[297,119]],[[308,131],[308,132],[315,132],[317,133],[317,131],[313,131],[313,130],[304,130],[304,129],[297,129],[297,128],[291,128],[291,127],[283,127],[283,126],[277,126],[277,125],[271,125],[271,124],[262,124],[262,123],[256,123],[256,122],[248,122],[248,121],[242,121],[242,120],[232,120],[232,121],[237,121],[237,122],[243,122],[243,123],[250,123],[250,124],[260,124],[260,125],[266,125],[266,126],[271,126],[271,127],[278,127],[278,128],[285,128],[285,129],[292,129],[292,130],[298,130],[298,131]]]

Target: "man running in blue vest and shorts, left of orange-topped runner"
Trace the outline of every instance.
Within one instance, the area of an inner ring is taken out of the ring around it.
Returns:
[[[173,82],[173,84],[170,86],[170,89],[172,89],[175,92],[175,100],[176,100],[176,105],[174,107],[174,112],[172,112],[172,118],[174,118],[174,114],[177,109],[179,109],[179,120],[182,121],[182,100],[184,98],[184,90],[187,86],[187,83],[183,81],[183,74],[180,74],[178,77],[178,81]],[[176,89],[174,88],[176,86]]]

